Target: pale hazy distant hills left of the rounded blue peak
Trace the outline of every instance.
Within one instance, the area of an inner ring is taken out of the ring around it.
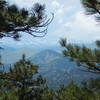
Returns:
[[[4,49],[1,51],[2,61],[5,64],[12,64],[21,59],[22,55],[26,54],[26,58],[36,54],[36,51],[30,48],[19,48],[19,49]]]

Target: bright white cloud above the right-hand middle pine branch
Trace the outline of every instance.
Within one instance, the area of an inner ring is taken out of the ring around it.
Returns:
[[[95,41],[100,29],[92,16],[86,16],[82,11],[73,16],[73,21],[64,24],[70,28],[70,37],[77,41]]]

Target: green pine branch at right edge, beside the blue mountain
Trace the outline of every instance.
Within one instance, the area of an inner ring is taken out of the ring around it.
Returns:
[[[77,65],[87,68],[87,71],[100,73],[100,50],[99,48],[90,49],[86,46],[67,44],[65,39],[60,41],[64,50],[64,56],[68,56],[71,61],[77,62]],[[99,41],[96,42],[99,47]]]

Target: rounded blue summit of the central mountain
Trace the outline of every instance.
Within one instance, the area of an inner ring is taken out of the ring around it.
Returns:
[[[51,61],[54,61],[57,58],[60,58],[61,56],[62,55],[58,52],[52,50],[44,50],[30,57],[29,60],[31,60],[35,64],[44,65],[48,64]]]

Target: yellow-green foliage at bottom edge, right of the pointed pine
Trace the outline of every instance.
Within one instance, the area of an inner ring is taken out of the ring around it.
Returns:
[[[96,85],[96,84],[95,84]],[[62,85],[56,93],[57,100],[100,100],[100,92],[94,92],[86,87],[79,87],[71,82],[69,85]]]

